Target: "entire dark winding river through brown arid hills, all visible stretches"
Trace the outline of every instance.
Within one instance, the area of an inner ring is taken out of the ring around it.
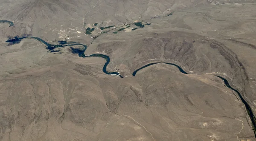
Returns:
[[[9,23],[9,24],[10,24],[9,27],[11,27],[11,26],[14,25],[13,22],[7,21],[7,20],[0,20],[0,23]],[[73,53],[73,54],[78,54],[80,57],[84,57],[84,58],[86,58],[86,57],[101,57],[101,58],[104,58],[104,59],[106,60],[106,62],[105,62],[105,65],[104,65],[103,68],[102,68],[102,71],[103,71],[104,73],[108,74],[108,75],[119,76],[119,77],[123,78],[123,76],[121,76],[121,74],[120,74],[119,72],[109,72],[109,71],[107,71],[107,66],[108,66],[108,64],[110,63],[110,58],[109,58],[109,56],[104,55],[104,54],[91,54],[91,55],[86,56],[86,55],[84,54],[84,52],[85,52],[86,49],[87,49],[87,45],[83,45],[83,44],[80,44],[80,43],[74,43],[74,42],[61,42],[61,43],[58,44],[58,45],[54,45],[54,44],[50,44],[50,43],[48,43],[48,42],[45,42],[43,39],[38,38],[38,37],[15,37],[15,38],[13,38],[13,39],[8,39],[6,42],[9,42],[10,44],[16,44],[16,43],[19,43],[22,39],[26,39],[26,38],[36,39],[36,40],[42,42],[44,45],[47,46],[47,49],[50,50],[50,51],[53,51],[53,49],[55,49],[55,48],[61,48],[61,47],[65,47],[65,46],[70,46],[70,49],[71,49],[72,53]],[[73,48],[72,46],[74,46],[74,45],[81,45],[81,46],[83,46],[83,49]],[[54,51],[54,52],[58,52],[58,51]],[[176,65],[176,64],[167,63],[167,62],[154,62],[154,63],[149,63],[149,64],[147,64],[147,65],[144,65],[144,66],[141,67],[141,68],[138,68],[137,70],[135,70],[135,71],[132,73],[132,76],[136,76],[136,73],[137,73],[138,71],[140,71],[141,69],[146,68],[146,67],[151,66],[151,65],[154,65],[154,64],[158,64],[158,63],[165,63],[165,64],[168,64],[168,65],[174,65],[175,67],[177,67],[177,68],[179,69],[179,71],[180,71],[181,73],[188,74],[188,73],[186,73],[180,66],[178,66],[178,65]],[[217,76],[217,75],[215,75],[215,76]],[[227,81],[227,79],[224,79],[224,78],[221,77],[221,76],[217,76],[217,77],[220,78],[220,79],[222,79],[222,80],[224,81],[224,84],[225,84],[228,88],[230,88],[231,90],[235,91],[235,92],[239,95],[239,98],[241,99],[241,102],[243,102],[243,104],[244,104],[244,106],[245,106],[245,108],[246,108],[246,110],[247,110],[247,113],[248,113],[248,115],[249,115],[249,117],[250,117],[250,119],[251,119],[252,126],[253,126],[253,131],[254,131],[254,135],[255,135],[255,137],[256,137],[256,129],[255,129],[255,127],[256,127],[256,118],[255,118],[255,116],[253,115],[253,111],[252,111],[250,105],[245,101],[245,99],[243,98],[243,96],[241,95],[241,93],[240,93],[238,90],[236,90],[235,88],[233,88],[233,87],[230,86],[230,84],[229,84],[229,82]]]

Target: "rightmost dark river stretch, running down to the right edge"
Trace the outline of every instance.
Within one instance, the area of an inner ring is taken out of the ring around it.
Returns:
[[[238,94],[239,98],[240,98],[241,101],[243,102],[243,104],[244,104],[244,106],[245,106],[245,108],[246,108],[246,110],[247,110],[247,113],[248,113],[248,115],[249,115],[249,117],[250,117],[250,119],[251,119],[252,126],[253,126],[253,131],[254,131],[254,136],[255,136],[255,138],[256,138],[256,129],[255,129],[255,127],[256,127],[256,118],[255,118],[255,116],[253,115],[253,111],[252,111],[250,105],[244,100],[243,96],[241,95],[241,93],[239,93],[238,90],[234,89],[233,87],[231,87],[231,86],[229,85],[227,79],[224,79],[224,78],[221,77],[221,76],[217,76],[217,77],[220,78],[220,79],[222,79],[222,80],[224,81],[225,85],[226,85],[228,88],[230,88],[231,90],[235,91],[235,92]]]

